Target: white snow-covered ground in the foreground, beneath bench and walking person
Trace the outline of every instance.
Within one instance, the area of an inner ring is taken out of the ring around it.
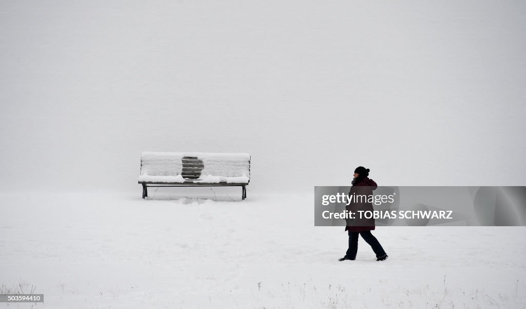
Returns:
[[[0,307],[526,308],[524,227],[378,227],[387,261],[338,262],[313,194],[216,191],[0,195],[0,287],[45,295]]]

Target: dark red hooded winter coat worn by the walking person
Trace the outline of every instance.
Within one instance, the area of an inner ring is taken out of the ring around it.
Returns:
[[[372,195],[372,191],[376,190],[376,188],[378,188],[376,182],[372,179],[369,179],[369,177],[365,177],[363,178],[363,180],[359,180],[358,182],[355,182],[352,185],[351,190],[349,191],[349,195],[367,195],[369,197],[370,195]],[[375,229],[374,218],[371,217],[370,219],[360,219],[357,213],[357,211],[373,211],[372,203],[363,201],[356,203],[353,200],[353,202],[347,205],[345,209],[355,214],[355,218],[346,220],[346,231],[363,232],[372,231]]]

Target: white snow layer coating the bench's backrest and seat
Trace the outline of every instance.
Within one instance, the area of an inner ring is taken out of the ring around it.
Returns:
[[[197,157],[204,168],[198,179],[184,178],[183,158]],[[250,180],[248,153],[143,152],[139,182],[146,183],[244,183]]]

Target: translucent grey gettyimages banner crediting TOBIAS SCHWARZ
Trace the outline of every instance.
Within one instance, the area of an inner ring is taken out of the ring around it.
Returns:
[[[526,226],[526,187],[315,187],[315,225]]]

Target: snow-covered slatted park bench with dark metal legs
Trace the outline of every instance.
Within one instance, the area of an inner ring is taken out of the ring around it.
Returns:
[[[143,152],[139,184],[148,187],[240,186],[247,197],[250,182],[248,153]]]

